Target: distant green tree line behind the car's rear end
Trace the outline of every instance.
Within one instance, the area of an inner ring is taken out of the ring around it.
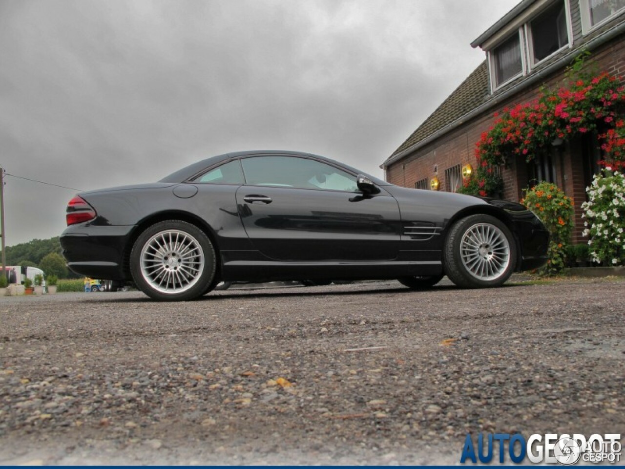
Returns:
[[[49,240],[31,240],[19,245],[6,246],[6,265],[38,267],[45,275],[56,275],[58,278],[79,277],[65,266],[58,236]]]

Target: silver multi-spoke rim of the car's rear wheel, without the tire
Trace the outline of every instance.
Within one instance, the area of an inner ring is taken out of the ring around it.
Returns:
[[[166,229],[141,249],[141,275],[161,293],[182,293],[196,285],[204,270],[199,241],[179,229]]]

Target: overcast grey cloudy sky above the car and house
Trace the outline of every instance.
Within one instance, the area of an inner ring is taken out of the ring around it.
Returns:
[[[0,164],[77,189],[242,149],[379,164],[517,0],[0,0]],[[6,177],[6,244],[76,191]]]

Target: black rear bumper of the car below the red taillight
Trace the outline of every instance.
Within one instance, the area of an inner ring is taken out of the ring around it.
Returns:
[[[61,248],[69,270],[91,278],[131,280],[126,252],[134,226],[69,226],[61,235]]]

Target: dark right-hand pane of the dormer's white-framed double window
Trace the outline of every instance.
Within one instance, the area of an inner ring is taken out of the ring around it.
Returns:
[[[568,46],[569,30],[564,2],[557,2],[534,18],[527,29],[529,31],[528,42],[531,46],[532,64],[537,64]]]

